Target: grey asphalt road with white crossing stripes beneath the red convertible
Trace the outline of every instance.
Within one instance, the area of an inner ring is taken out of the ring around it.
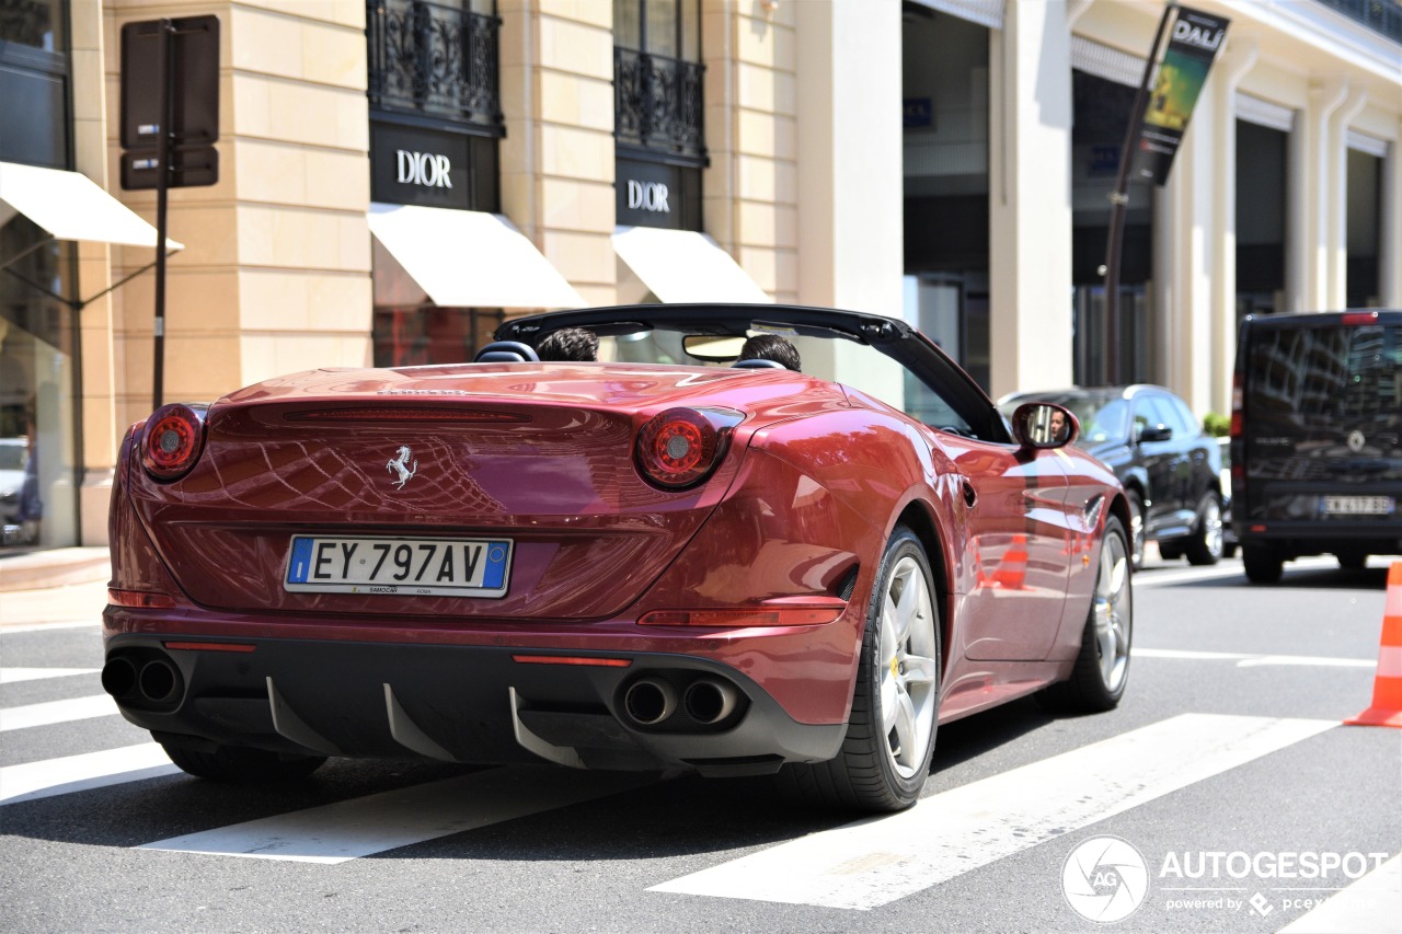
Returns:
[[[1340,725],[1385,579],[1154,564],[1119,710],[949,724],[920,805],[879,820],[552,767],[202,783],[102,697],[95,623],[11,630],[0,928],[1402,931],[1402,731]]]

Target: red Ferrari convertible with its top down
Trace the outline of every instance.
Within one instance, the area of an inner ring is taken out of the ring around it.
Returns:
[[[597,360],[540,362],[562,328]],[[737,363],[757,334],[843,381]],[[589,309],[496,337],[128,432],[102,684],[181,769],[778,773],[890,811],[939,722],[1119,703],[1129,509],[1067,410],[1009,424],[918,331],[852,311]]]

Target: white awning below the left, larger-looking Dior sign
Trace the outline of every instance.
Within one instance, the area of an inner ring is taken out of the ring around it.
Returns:
[[[501,215],[370,205],[370,233],[435,304],[579,309],[585,300]]]

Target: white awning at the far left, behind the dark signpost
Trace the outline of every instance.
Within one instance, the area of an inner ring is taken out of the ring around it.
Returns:
[[[0,163],[0,222],[21,213],[55,240],[156,247],[156,227],[79,172]],[[171,250],[182,245],[165,238]]]

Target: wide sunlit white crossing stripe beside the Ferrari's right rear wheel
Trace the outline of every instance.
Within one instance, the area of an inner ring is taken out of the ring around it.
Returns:
[[[812,833],[649,892],[869,910],[1336,725],[1183,714],[924,798],[910,811]]]

